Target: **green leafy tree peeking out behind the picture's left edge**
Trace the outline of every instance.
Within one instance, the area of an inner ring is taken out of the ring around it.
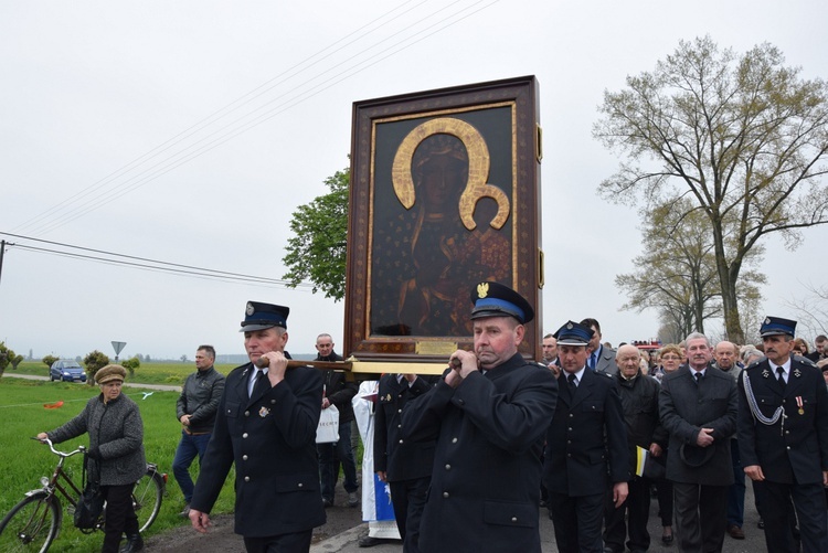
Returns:
[[[283,259],[289,268],[283,278],[291,288],[310,280],[314,293],[322,290],[335,300],[344,297],[349,182],[350,169],[337,171],[325,180],[330,192],[294,212]]]

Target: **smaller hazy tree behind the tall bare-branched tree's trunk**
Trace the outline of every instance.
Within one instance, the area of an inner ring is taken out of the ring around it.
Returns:
[[[634,259],[636,270],[618,275],[615,284],[629,301],[622,309],[656,309],[662,326],[675,336],[704,332],[704,321],[722,316],[722,291],[716,274],[710,221],[693,211],[687,199],[658,205],[650,212],[644,230],[645,253]],[[761,260],[762,246],[746,256],[745,266]],[[740,300],[756,304],[757,285],[765,277],[756,270],[743,270]]]

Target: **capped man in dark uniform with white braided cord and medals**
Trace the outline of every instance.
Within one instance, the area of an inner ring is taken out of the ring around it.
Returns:
[[[765,521],[768,551],[828,551],[828,392],[820,371],[790,354],[796,321],[767,317],[760,334],[765,359],[739,381],[739,446]]]

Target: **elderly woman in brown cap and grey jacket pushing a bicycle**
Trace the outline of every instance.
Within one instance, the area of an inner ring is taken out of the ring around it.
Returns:
[[[89,478],[99,476],[106,500],[103,553],[117,552],[123,533],[127,534],[127,543],[121,552],[144,549],[132,509],[132,488],[147,471],[144,422],[138,405],[120,393],[126,375],[126,369],[120,365],[104,366],[95,375],[100,394],[91,398],[84,410],[63,426],[38,434],[38,438],[49,438],[54,444],[89,434]]]

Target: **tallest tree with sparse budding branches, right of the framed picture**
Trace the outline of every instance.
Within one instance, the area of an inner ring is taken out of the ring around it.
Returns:
[[[687,198],[710,221],[725,331],[744,341],[739,285],[745,257],[777,233],[788,248],[802,228],[828,222],[828,85],[786,67],[761,44],[736,56],[709,38],[680,42],[652,72],[605,92],[593,135],[626,155],[601,183],[616,202]],[[646,166],[641,166],[646,161]]]

